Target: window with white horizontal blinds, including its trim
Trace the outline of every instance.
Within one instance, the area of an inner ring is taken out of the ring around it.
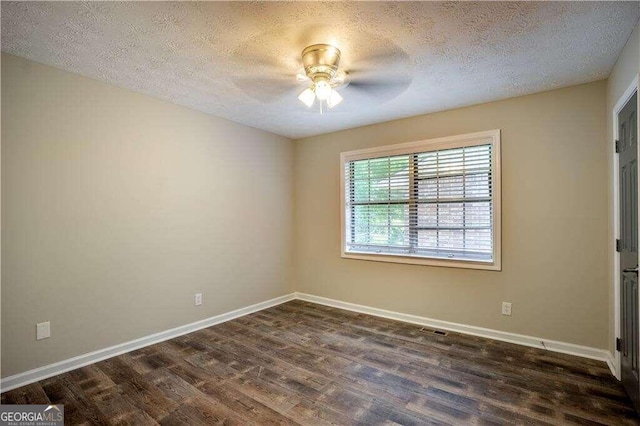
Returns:
[[[500,131],[341,154],[342,257],[500,270]]]

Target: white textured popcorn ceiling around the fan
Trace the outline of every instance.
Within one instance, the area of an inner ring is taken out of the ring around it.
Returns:
[[[606,78],[636,2],[2,2],[2,50],[300,138]],[[353,81],[324,114],[300,52]]]

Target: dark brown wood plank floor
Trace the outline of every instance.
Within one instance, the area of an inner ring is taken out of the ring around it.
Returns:
[[[603,362],[293,301],[2,394],[67,424],[638,424]]]

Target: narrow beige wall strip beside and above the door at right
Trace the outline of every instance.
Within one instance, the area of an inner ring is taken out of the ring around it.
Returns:
[[[613,67],[609,78],[607,79],[607,133],[606,133],[606,144],[608,146],[607,149],[607,166],[609,170],[607,172],[608,175],[608,203],[609,203],[609,253],[613,253],[613,244],[614,244],[614,236],[615,236],[615,222],[613,217],[613,150],[612,150],[612,139],[613,139],[613,108],[616,103],[620,99],[620,97],[624,94],[625,90],[629,87],[629,85],[633,82],[633,79],[638,75],[638,71],[640,70],[640,25],[636,26],[633,33],[627,40],[627,43],[620,53],[618,60],[616,61],[616,65]],[[609,274],[609,345],[608,348],[610,351],[615,350],[615,310],[614,310],[614,284],[613,284],[613,256],[609,256],[609,266],[608,269]]]

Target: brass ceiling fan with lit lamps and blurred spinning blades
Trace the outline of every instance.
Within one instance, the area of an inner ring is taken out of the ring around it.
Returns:
[[[336,38],[348,40],[341,46],[344,51],[334,43],[317,43]],[[296,45],[307,47],[300,51]],[[257,34],[238,46],[233,60],[239,69],[232,81],[245,94],[285,108],[295,108],[297,97],[309,111],[320,112],[357,111],[388,102],[407,90],[414,70],[409,55],[390,40],[358,32],[339,37],[331,27]]]

